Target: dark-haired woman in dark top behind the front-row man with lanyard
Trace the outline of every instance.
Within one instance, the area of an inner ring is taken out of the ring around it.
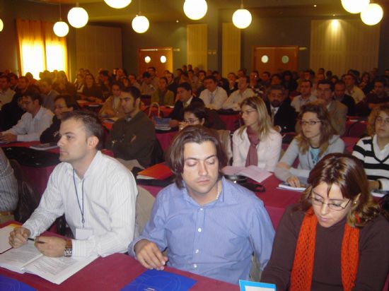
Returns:
[[[79,105],[71,95],[58,95],[54,99],[54,117],[52,124],[40,135],[41,143],[57,143],[59,141],[59,127],[64,113],[79,110]]]

